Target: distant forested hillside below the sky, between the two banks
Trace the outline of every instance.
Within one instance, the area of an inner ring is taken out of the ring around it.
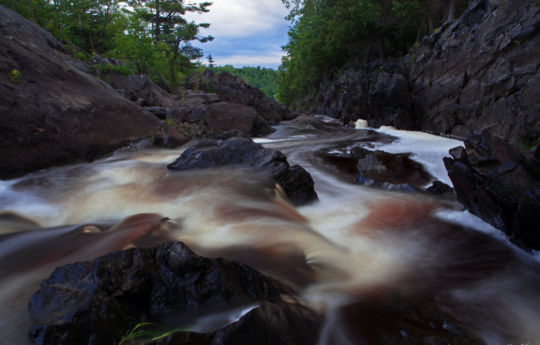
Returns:
[[[260,66],[235,68],[231,65],[212,67],[212,69],[215,73],[227,72],[239,76],[268,97],[276,99],[279,85],[279,72],[276,70]]]

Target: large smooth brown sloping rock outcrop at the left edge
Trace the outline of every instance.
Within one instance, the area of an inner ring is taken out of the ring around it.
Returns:
[[[158,119],[80,71],[45,30],[0,6],[0,178],[92,160]]]

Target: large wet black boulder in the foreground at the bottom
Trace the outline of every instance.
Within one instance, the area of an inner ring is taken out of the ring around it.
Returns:
[[[180,332],[156,344],[188,338],[195,339],[190,344],[315,345],[320,319],[280,300],[291,293],[248,266],[200,257],[182,243],[128,249],[55,269],[28,305],[35,322],[30,339],[36,345],[113,345],[140,322],[169,319],[182,326],[184,320],[193,327],[200,313],[253,305],[212,336]]]

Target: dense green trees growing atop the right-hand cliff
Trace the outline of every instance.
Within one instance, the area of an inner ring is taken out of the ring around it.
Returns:
[[[324,75],[352,58],[399,56],[468,0],[282,0],[290,10],[289,42],[279,68],[278,98],[291,105]]]

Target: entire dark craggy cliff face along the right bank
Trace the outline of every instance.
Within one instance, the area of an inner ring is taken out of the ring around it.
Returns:
[[[540,138],[540,4],[477,0],[401,64],[351,62],[304,110],[457,136],[487,129],[514,145]]]

